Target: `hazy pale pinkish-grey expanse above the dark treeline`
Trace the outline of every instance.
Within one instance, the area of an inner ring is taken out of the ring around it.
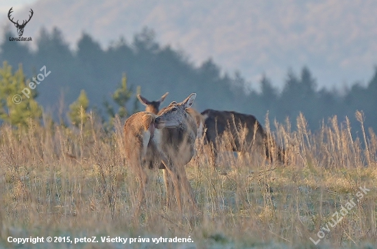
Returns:
[[[12,6],[20,19],[34,10],[24,36],[38,38],[40,27],[57,26],[71,47],[86,31],[106,48],[121,36],[132,42],[147,26],[194,64],[211,57],[254,87],[264,73],[282,86],[288,70],[299,73],[302,66],[319,87],[366,84],[377,64],[374,0],[1,0],[1,28]]]

